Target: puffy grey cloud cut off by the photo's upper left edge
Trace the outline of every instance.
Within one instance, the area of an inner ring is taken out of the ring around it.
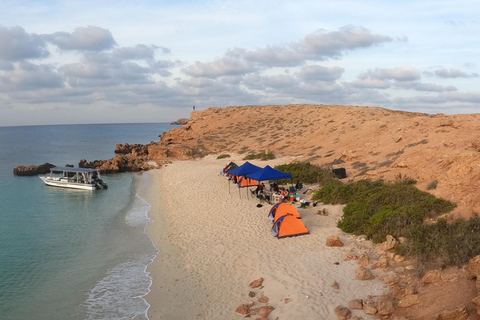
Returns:
[[[22,61],[48,57],[46,43],[42,36],[28,34],[22,27],[0,26],[0,60]]]

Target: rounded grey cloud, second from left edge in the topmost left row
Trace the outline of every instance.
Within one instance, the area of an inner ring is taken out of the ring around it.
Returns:
[[[95,26],[79,27],[74,32],[55,32],[44,38],[62,50],[103,51],[116,45],[110,31]]]

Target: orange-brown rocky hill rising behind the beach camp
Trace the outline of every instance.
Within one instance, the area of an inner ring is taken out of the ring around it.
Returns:
[[[454,215],[480,212],[480,114],[444,115],[377,107],[286,105],[209,108],[149,146],[150,159],[207,153],[271,152],[346,168],[348,179],[398,175],[458,204]]]

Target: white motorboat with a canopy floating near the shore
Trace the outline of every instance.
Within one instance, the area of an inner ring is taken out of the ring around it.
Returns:
[[[83,190],[106,189],[107,184],[100,179],[100,170],[88,168],[54,167],[50,174],[40,177],[45,184],[54,187]]]

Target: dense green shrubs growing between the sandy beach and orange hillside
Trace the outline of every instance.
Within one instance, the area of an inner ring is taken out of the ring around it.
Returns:
[[[338,227],[382,242],[387,235],[405,237],[395,251],[414,257],[419,270],[460,266],[480,254],[480,218],[447,221],[444,216],[455,204],[419,190],[416,181],[397,176],[394,181],[359,180],[343,183],[331,167],[294,162],[275,167],[292,174],[293,181],[318,183],[322,188],[313,200],[345,204]],[[287,183],[287,181],[283,181]]]

